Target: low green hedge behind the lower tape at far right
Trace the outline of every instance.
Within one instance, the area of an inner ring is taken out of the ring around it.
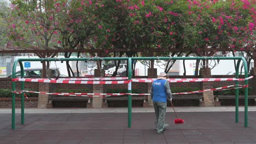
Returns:
[[[224,91],[214,91],[214,95],[235,95],[235,89],[226,89]],[[245,94],[245,88],[238,88],[239,95]],[[252,87],[248,87],[248,94],[253,94]]]

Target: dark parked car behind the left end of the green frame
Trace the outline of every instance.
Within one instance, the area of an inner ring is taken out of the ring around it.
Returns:
[[[42,74],[42,68],[37,69],[24,69],[24,77],[41,77]],[[66,75],[61,75],[59,69],[51,68],[51,74],[53,77],[67,77]],[[8,76],[12,77],[12,75]],[[21,71],[16,72],[16,77],[21,77]]]

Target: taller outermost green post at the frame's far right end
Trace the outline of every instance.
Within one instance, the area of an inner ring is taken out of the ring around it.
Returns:
[[[248,85],[248,68],[247,62],[244,57],[242,57],[243,67],[245,69],[245,85]],[[245,88],[245,127],[248,127],[248,87]]]

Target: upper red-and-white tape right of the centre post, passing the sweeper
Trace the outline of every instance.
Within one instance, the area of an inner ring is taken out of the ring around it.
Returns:
[[[252,79],[253,76],[250,76],[246,79],[236,79],[232,78],[198,78],[198,79],[167,79],[168,82],[207,82],[207,81],[245,81]],[[132,79],[132,82],[153,82],[156,79]]]

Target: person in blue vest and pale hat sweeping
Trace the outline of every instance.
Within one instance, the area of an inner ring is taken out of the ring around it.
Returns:
[[[167,99],[172,100],[172,93],[166,73],[160,73],[158,78],[153,81],[150,96],[153,100],[156,116],[156,133],[162,134],[165,131]]]

